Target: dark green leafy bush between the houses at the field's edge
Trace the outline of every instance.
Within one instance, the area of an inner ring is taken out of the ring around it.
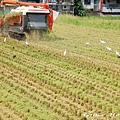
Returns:
[[[84,9],[83,4],[80,0],[74,0],[74,15],[85,16],[86,9]]]

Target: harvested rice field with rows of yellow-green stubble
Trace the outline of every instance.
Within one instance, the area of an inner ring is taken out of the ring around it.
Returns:
[[[119,17],[60,15],[26,41],[0,37],[0,120],[120,119]]]

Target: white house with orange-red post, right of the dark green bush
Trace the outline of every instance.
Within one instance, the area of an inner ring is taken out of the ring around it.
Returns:
[[[81,0],[84,8],[100,11],[103,14],[120,15],[120,0]]]

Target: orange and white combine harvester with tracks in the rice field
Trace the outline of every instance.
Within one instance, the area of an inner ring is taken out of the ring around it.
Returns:
[[[59,12],[52,10],[47,3],[39,0],[2,0],[0,29],[4,35],[21,40],[25,32],[31,30],[52,30]]]

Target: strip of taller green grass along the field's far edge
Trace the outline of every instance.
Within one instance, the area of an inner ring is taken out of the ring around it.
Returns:
[[[77,17],[72,15],[59,15],[58,22],[73,24],[79,26],[88,26],[94,28],[115,29],[120,30],[120,17],[113,16],[90,16]]]

